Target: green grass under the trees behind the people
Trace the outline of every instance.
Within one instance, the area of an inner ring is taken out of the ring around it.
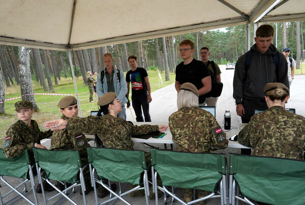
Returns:
[[[147,71],[149,76],[149,82],[151,87],[151,92],[157,91],[159,88],[159,77],[157,71]],[[126,74],[126,73],[125,73]],[[165,81],[165,73],[161,73],[163,82],[165,86],[171,85],[175,81],[175,74],[170,73],[170,80]],[[97,102],[90,103],[89,102],[89,90],[88,87],[85,86],[81,77],[76,79],[77,84],[77,92],[79,95],[80,108],[82,117],[88,116],[91,110],[98,110]],[[48,91],[44,91],[40,84],[37,84],[36,81],[33,82],[34,93],[50,93]],[[54,86],[54,93],[57,94],[75,94],[74,86],[72,78],[64,78],[59,81],[58,86]],[[5,88],[5,98],[15,98],[20,96],[20,87],[15,85],[10,88]],[[44,122],[56,119],[61,116],[59,108],[57,107],[58,101],[64,96],[46,96],[46,95],[35,95],[36,103],[40,109],[39,112],[35,113],[32,119],[38,122],[41,130],[45,130],[42,126]],[[94,96],[95,98],[95,96]],[[131,99],[131,98],[130,98]],[[6,131],[9,127],[14,124],[18,118],[16,116],[15,102],[21,99],[15,99],[5,102],[5,111],[6,114],[1,115],[0,121],[0,148],[3,148],[4,139],[6,136]]]

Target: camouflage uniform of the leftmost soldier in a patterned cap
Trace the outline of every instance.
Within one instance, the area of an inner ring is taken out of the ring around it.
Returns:
[[[41,132],[35,120],[31,120],[33,128],[28,127],[22,120],[18,120],[7,131],[3,153],[8,158],[19,156],[25,149],[30,152],[31,160],[34,162],[34,144],[40,144],[40,140],[52,136],[52,131]]]

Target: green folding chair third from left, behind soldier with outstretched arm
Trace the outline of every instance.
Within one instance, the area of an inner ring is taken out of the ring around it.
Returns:
[[[145,200],[148,205],[149,188],[145,153],[143,151],[89,147],[87,148],[87,153],[96,204],[115,202],[117,199],[130,204],[123,196],[133,191],[144,189]],[[99,178],[94,177],[95,173]],[[103,179],[108,179],[109,184],[103,183]],[[111,190],[110,181],[119,182],[118,194]],[[96,183],[101,184],[110,192],[110,198],[102,203],[98,202]],[[131,183],[138,186],[121,193],[120,183]],[[114,196],[112,197],[112,195]]]

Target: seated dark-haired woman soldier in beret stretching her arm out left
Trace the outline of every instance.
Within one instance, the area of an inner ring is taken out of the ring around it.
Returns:
[[[73,132],[96,133],[101,138],[106,148],[133,150],[132,135],[147,134],[156,131],[165,131],[167,126],[142,125],[134,126],[132,122],[124,118],[117,117],[121,112],[121,103],[116,98],[115,93],[110,92],[103,95],[98,105],[100,110],[98,115],[84,118],[72,116],[70,119],[56,119],[48,121],[46,128],[52,130],[66,129]],[[112,187],[111,187],[112,188]]]

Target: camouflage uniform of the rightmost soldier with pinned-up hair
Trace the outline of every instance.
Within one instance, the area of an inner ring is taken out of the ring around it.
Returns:
[[[305,118],[273,106],[255,114],[238,134],[238,142],[252,147],[253,155],[303,159]]]

